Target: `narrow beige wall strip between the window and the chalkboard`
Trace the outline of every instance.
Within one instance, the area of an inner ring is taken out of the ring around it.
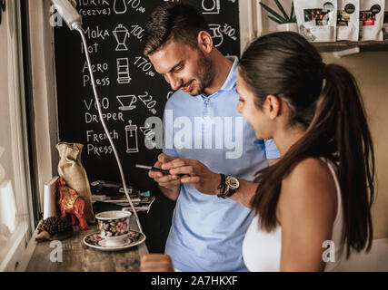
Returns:
[[[50,0],[29,5],[30,50],[35,111],[35,146],[38,162],[38,186],[41,210],[44,206],[44,185],[56,173],[58,152],[55,71],[52,27],[49,24]]]

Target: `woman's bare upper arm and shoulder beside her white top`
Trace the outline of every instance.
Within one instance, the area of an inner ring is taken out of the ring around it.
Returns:
[[[284,179],[277,215],[281,271],[323,271],[323,242],[332,237],[336,198],[333,176],[321,160],[303,160]]]

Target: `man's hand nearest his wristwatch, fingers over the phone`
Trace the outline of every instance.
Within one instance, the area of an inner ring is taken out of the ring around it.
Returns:
[[[198,191],[217,195],[218,186],[221,183],[221,176],[208,169],[203,163],[197,160],[187,160],[178,158],[170,162],[162,164],[162,169],[170,170],[170,174],[174,178],[180,178],[182,183],[192,183]]]

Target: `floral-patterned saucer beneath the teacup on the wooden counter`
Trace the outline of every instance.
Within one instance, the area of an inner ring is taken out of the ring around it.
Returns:
[[[142,233],[131,231],[127,238],[125,238],[124,244],[115,247],[106,246],[106,240],[104,237],[101,237],[99,233],[89,234],[84,237],[84,244],[88,247],[94,247],[102,251],[118,251],[123,250],[128,247],[134,247],[140,245],[144,242],[145,236]]]

